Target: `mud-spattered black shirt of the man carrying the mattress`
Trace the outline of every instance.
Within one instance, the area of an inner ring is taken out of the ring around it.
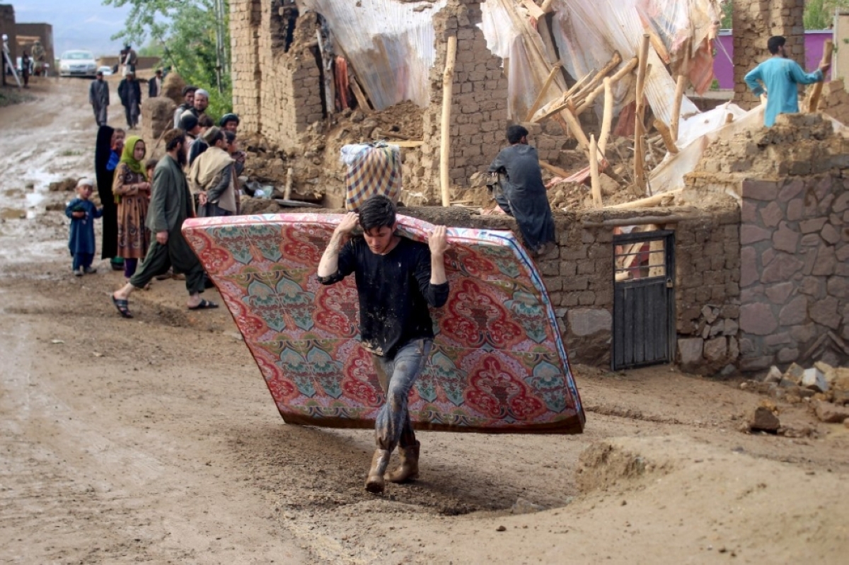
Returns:
[[[360,301],[363,346],[376,355],[394,357],[413,339],[433,338],[428,305],[448,299],[448,283],[430,284],[430,249],[407,238],[386,255],[368,249],[363,237],[352,238],[339,254],[339,270],[318,277],[333,284],[354,273]]]

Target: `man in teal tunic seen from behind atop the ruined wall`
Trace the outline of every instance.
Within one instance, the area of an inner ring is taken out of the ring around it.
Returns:
[[[767,109],[763,115],[763,123],[772,127],[779,114],[796,114],[799,112],[800,84],[812,84],[823,81],[830,64],[819,65],[819,69],[806,73],[796,61],[787,59],[784,53],[782,36],[773,36],[767,41],[767,49],[773,56],[762,64],[757,65],[745,76],[755,96],[767,95]],[[766,88],[764,88],[766,87]]]

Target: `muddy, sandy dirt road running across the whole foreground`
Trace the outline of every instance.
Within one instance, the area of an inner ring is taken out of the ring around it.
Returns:
[[[584,434],[423,433],[368,495],[372,434],[284,424],[225,310],[169,280],[123,320],[120,273],[70,276],[47,185],[93,174],[87,81],[33,82],[0,109],[0,562],[846,562],[849,429],[745,434],[759,396],[666,366],[574,367]]]

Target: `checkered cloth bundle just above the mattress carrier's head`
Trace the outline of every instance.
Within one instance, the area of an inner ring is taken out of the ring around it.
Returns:
[[[345,176],[345,208],[356,212],[374,194],[392,202],[401,196],[401,152],[386,143],[357,143],[342,148],[342,161],[348,165]]]

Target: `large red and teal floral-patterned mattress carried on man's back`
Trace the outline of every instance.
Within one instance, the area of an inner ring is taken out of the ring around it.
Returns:
[[[192,219],[183,225],[285,422],[366,428],[384,394],[358,342],[354,277],[318,283],[341,215]],[[399,216],[404,237],[433,227]],[[510,232],[448,228],[447,304],[431,310],[430,363],[410,394],[419,429],[580,433],[584,414],[554,311]]]

